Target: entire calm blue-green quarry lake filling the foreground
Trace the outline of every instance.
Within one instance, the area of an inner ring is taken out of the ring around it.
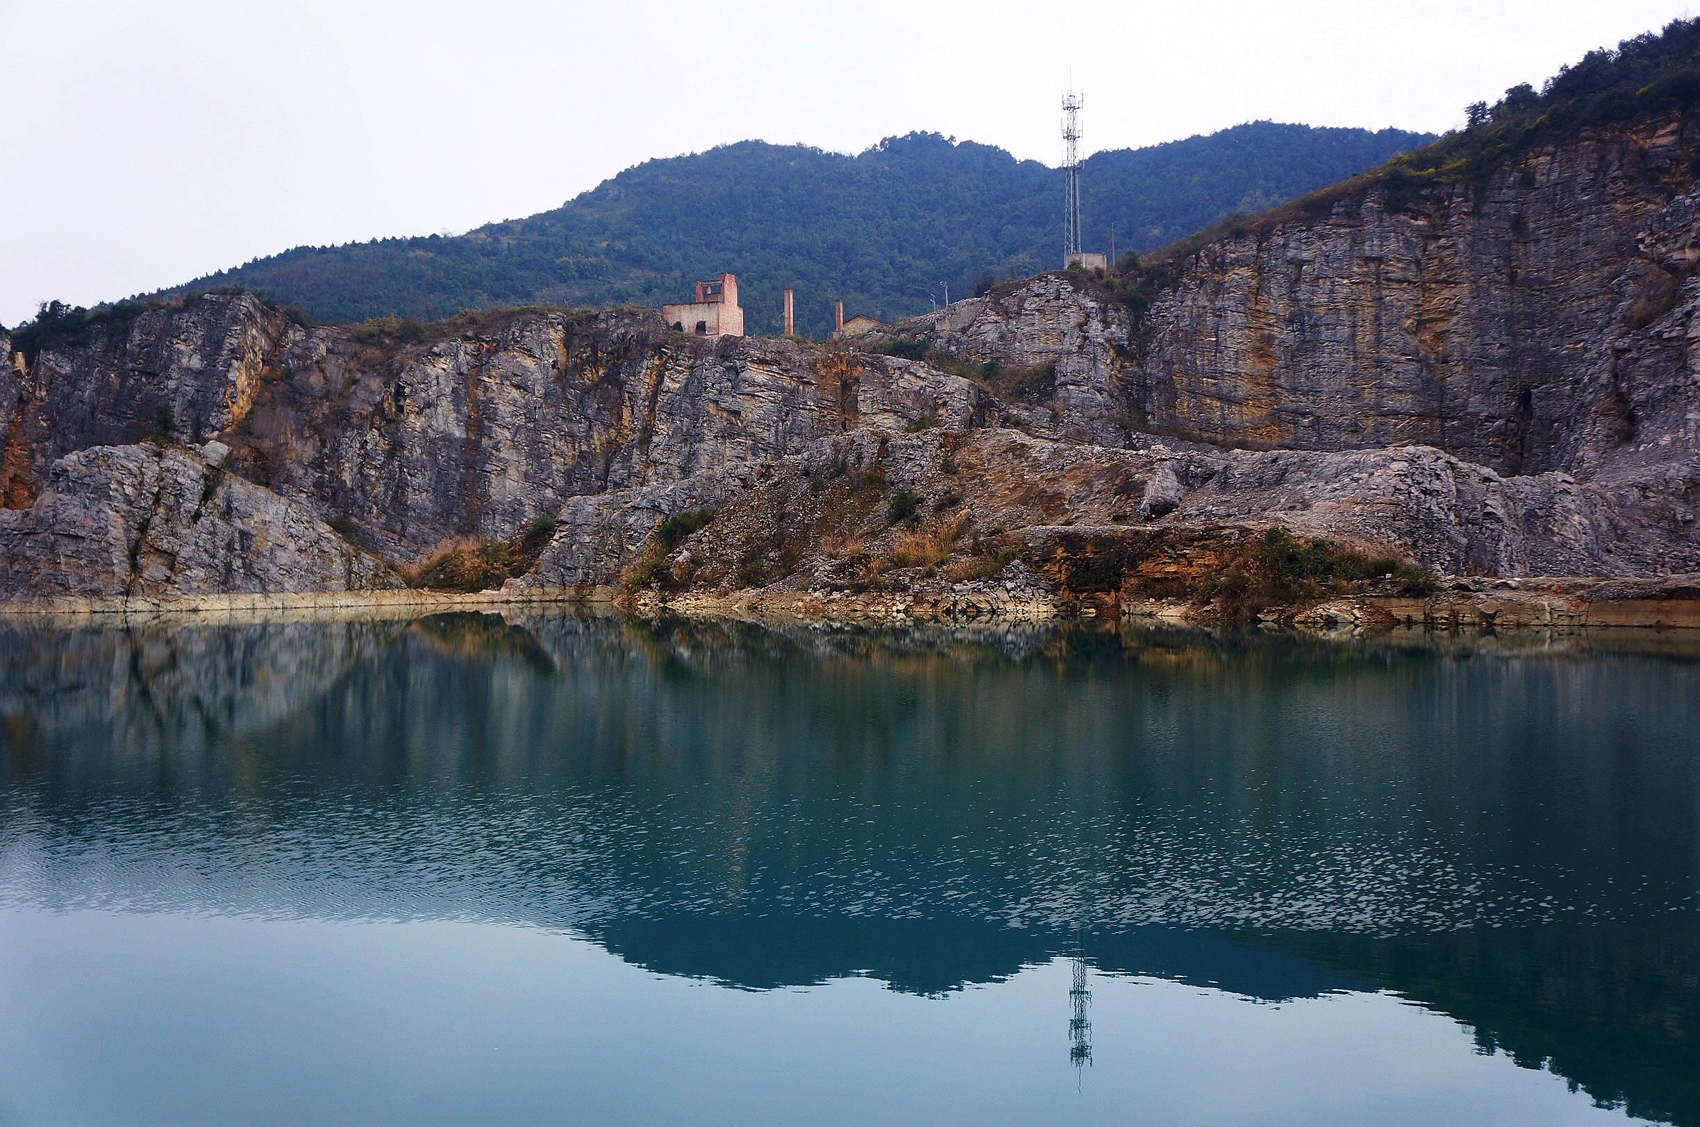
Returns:
[[[0,1122],[1700,1124],[1700,661],[0,624]]]

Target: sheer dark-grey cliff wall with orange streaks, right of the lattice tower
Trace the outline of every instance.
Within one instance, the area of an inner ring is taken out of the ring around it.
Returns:
[[[1142,406],[1210,440],[1579,469],[1635,427],[1625,365],[1686,379],[1697,143],[1678,124],[1584,136],[1479,195],[1372,190],[1212,243],[1149,313]]]

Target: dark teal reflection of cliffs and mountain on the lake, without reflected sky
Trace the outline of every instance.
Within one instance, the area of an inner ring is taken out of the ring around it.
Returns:
[[[1105,971],[1399,989],[1700,1122],[1693,663],[571,615],[0,661],[15,896],[522,921],[748,988],[949,991],[1085,928]]]

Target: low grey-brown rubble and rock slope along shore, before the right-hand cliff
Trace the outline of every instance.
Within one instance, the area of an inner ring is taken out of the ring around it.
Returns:
[[[892,517],[901,491],[915,498],[913,518]],[[1443,575],[1700,568],[1693,546],[1649,541],[1605,491],[1569,474],[1501,478],[1433,447],[1260,454],[1149,437],[1107,449],[1015,430],[858,430],[768,466],[580,498],[513,585],[614,583],[666,517],[704,508],[712,520],[666,561],[673,586],[867,586],[889,581],[892,566],[903,583],[925,585],[971,542],[994,556],[988,546],[1018,530],[1039,535],[1022,532],[1027,546],[1086,535],[1088,552],[1180,546],[1202,552],[1205,569],[1210,552],[1268,527]],[[932,547],[916,537],[933,537]],[[903,573],[906,556],[932,559],[933,571]]]

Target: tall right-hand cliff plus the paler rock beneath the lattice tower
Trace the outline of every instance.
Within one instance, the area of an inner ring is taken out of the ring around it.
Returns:
[[[1421,444],[1506,483],[1569,474],[1615,512],[1608,554],[1658,568],[1700,544],[1697,155],[1700,126],[1583,134],[1481,192],[1375,189],[1253,224],[1180,262],[1120,342],[1108,296],[1062,275],[892,333],[1005,364],[1056,342],[1078,371],[1114,372],[1088,377],[1096,398],[1069,398],[1057,428],[1027,427],[1047,437],[1115,445],[1093,418],[1125,403],[1120,418],[1214,444]],[[1518,520],[1549,515],[1527,505]]]

